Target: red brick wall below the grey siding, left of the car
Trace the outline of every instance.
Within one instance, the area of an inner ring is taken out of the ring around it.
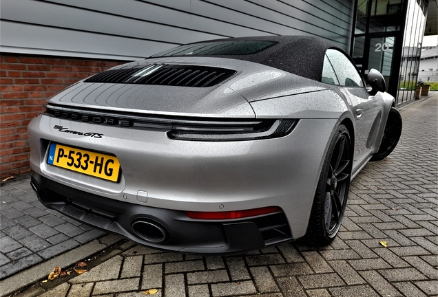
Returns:
[[[30,172],[27,126],[50,96],[123,61],[0,56],[0,178]]]

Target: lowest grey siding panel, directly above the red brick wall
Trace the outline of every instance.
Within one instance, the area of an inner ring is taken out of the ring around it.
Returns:
[[[120,36],[0,21],[1,52],[139,60],[174,45]],[[20,35],[15,32],[21,32]],[[41,34],[44,32],[44,34]],[[53,41],[56,40],[56,43]],[[78,42],[81,40],[81,42]],[[29,48],[32,45],[32,49]],[[74,49],[74,50],[72,50]],[[123,53],[123,54],[121,54]]]

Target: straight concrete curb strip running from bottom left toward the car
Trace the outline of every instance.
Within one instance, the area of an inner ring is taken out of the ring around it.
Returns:
[[[28,270],[24,270],[13,276],[0,281],[0,297],[8,296],[14,292],[32,285],[37,281],[41,281],[43,278],[47,278],[48,274],[52,272],[53,267],[59,266],[61,268],[69,267],[75,263],[92,256],[98,252],[102,252],[114,245],[118,241],[121,241],[121,236],[105,235],[100,239],[94,239],[85,245],[81,245],[79,248],[75,248],[64,254],[55,256],[54,258],[34,265]]]

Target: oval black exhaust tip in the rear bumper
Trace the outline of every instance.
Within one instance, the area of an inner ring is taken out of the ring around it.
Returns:
[[[154,219],[137,219],[131,228],[141,239],[150,243],[162,243],[168,237],[165,226]]]

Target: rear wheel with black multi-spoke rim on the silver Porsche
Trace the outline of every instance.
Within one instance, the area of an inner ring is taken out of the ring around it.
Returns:
[[[318,181],[306,241],[328,245],[340,230],[350,188],[353,145],[343,124],[337,127],[324,159]]]

